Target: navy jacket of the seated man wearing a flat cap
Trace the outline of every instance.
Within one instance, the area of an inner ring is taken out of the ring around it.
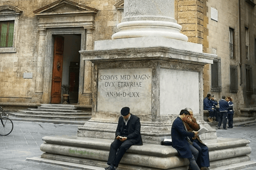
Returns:
[[[116,137],[118,135],[121,136],[121,131],[123,130],[124,125],[124,118],[120,116],[116,128]],[[133,145],[143,145],[140,135],[140,118],[132,114],[129,120],[127,140],[131,140]]]

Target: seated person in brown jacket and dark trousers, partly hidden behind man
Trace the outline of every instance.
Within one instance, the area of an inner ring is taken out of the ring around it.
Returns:
[[[193,116],[194,113],[191,108],[185,108],[186,111],[190,114],[190,119],[183,118],[183,122],[188,130],[188,132],[198,131],[200,129],[200,125],[196,122],[196,118]],[[209,170],[210,166],[210,158],[209,158],[209,149],[202,142],[202,140],[196,135],[195,138],[190,139],[193,142],[193,146],[198,150],[199,154],[196,160],[197,165],[201,170]]]

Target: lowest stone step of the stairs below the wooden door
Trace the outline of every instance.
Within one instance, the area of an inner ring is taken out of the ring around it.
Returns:
[[[91,118],[91,116],[80,116],[80,115],[73,115],[73,116],[55,116],[55,115],[28,115],[28,114],[21,114],[18,112],[10,112],[9,115],[18,118],[36,118],[36,119],[44,119],[44,120],[68,120],[68,121],[87,121]]]

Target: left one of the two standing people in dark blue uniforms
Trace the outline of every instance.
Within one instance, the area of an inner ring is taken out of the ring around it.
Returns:
[[[217,128],[220,129],[222,120],[223,120],[223,129],[227,130],[227,119],[228,119],[228,99],[226,99],[226,96],[222,96],[222,99],[219,101],[220,105],[220,118],[219,118],[219,123],[217,125]]]

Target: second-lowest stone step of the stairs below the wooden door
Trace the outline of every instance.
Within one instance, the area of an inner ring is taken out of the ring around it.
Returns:
[[[10,113],[15,114],[15,113]],[[20,114],[27,115],[48,115],[48,116],[91,116],[90,112],[43,112],[43,111],[20,111]]]

